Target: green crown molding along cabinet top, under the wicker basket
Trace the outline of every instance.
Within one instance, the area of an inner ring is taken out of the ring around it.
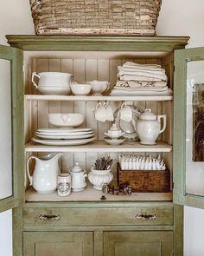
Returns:
[[[188,44],[189,36],[6,36],[24,50],[172,51]]]

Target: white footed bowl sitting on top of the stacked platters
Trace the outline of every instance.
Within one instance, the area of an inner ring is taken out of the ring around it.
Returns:
[[[80,113],[48,114],[48,121],[60,127],[76,127],[83,123],[85,115]]]

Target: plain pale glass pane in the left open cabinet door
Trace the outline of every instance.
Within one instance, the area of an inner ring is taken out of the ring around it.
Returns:
[[[0,60],[0,200],[12,191],[10,61]]]

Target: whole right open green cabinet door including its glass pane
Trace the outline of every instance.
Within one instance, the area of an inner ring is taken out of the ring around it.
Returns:
[[[204,207],[204,48],[175,51],[174,201]]]

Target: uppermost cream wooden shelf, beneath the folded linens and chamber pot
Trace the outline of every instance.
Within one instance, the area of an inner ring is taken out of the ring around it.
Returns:
[[[58,102],[165,102],[172,101],[173,95],[152,96],[75,96],[75,95],[25,95],[27,101],[58,101]]]

